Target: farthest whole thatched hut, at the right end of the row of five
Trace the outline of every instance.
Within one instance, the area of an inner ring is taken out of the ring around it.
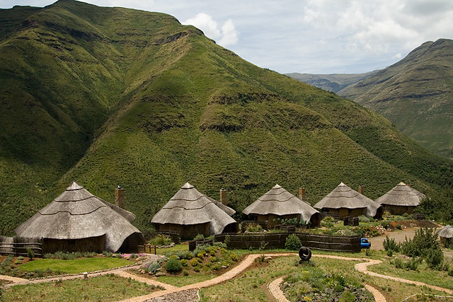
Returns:
[[[404,182],[400,182],[389,192],[376,199],[376,202],[381,204],[384,210],[390,211],[391,214],[411,214],[423,198],[425,198],[425,194],[418,192]]]

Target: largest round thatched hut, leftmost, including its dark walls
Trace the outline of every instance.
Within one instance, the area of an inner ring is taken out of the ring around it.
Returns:
[[[42,238],[43,252],[137,252],[144,243],[134,214],[105,202],[76,182],[16,228],[20,237]]]

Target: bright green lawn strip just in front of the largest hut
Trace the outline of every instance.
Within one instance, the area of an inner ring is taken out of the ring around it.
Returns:
[[[111,269],[114,267],[122,267],[132,264],[133,262],[129,260],[112,257],[81,258],[74,260],[39,259],[20,265],[18,269],[21,269],[25,272],[35,272],[35,270],[45,271],[46,269],[52,269],[52,271],[55,272],[78,274],[81,272],[93,272],[101,269]]]

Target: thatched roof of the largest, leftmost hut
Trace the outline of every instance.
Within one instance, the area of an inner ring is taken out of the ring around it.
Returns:
[[[134,214],[105,202],[76,182],[16,228],[21,237],[82,239],[105,235],[105,250],[116,252],[132,233]]]

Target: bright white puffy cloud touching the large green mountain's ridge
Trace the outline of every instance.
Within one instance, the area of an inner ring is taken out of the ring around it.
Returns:
[[[183,24],[194,25],[196,28],[200,28],[207,37],[218,40],[219,45],[225,47],[235,45],[238,42],[239,34],[231,19],[228,19],[222,25],[222,30],[219,30],[217,22],[207,13],[197,13],[195,18],[190,18],[184,21]]]

